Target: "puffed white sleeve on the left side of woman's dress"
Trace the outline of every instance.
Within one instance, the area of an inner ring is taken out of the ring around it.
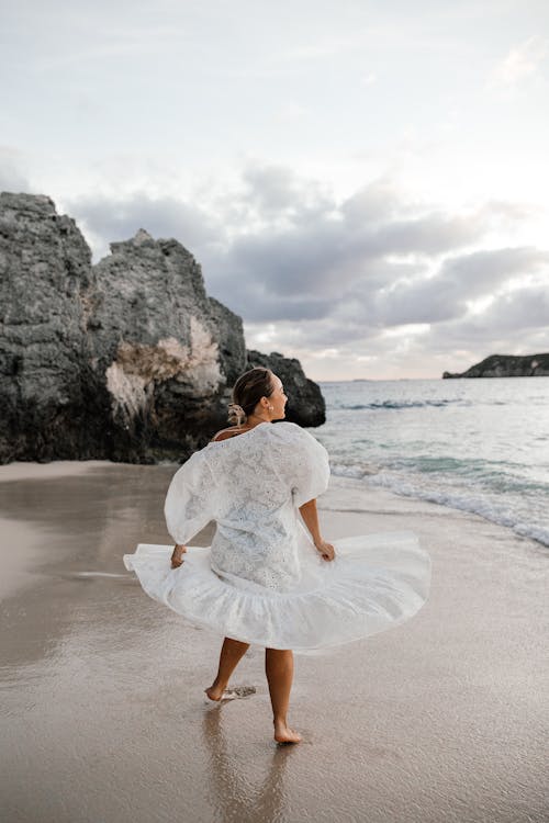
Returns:
[[[194,452],[176,472],[166,495],[166,526],[186,544],[212,519],[215,484],[203,452]]]

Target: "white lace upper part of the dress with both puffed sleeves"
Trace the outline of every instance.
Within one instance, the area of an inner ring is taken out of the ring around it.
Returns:
[[[215,520],[217,574],[288,590],[301,578],[296,509],[328,478],[327,452],[312,435],[291,422],[260,424],[181,466],[166,498],[168,530],[187,543]]]

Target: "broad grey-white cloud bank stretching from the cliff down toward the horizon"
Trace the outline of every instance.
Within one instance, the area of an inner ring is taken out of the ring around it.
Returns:
[[[209,293],[243,317],[249,347],[316,371],[322,352],[359,375],[367,360],[382,369],[388,358],[396,371],[407,358],[411,376],[414,357],[458,369],[440,358],[508,350],[517,336],[527,345],[549,317],[549,252],[482,248],[494,227],[527,217],[513,203],[451,214],[410,203],[389,179],[337,200],[284,167],[249,164],[222,194],[97,194],[64,205],[96,252],[141,227],[176,237],[202,263]]]

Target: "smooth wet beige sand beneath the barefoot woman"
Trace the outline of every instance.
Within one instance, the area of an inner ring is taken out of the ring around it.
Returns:
[[[262,650],[234,679],[257,694],[205,707],[221,639],[122,564],[170,542],[172,473],[0,467],[4,823],[547,823],[547,549],[333,478],[325,537],[416,531],[432,596],[403,627],[298,657],[304,742],[277,747]]]

